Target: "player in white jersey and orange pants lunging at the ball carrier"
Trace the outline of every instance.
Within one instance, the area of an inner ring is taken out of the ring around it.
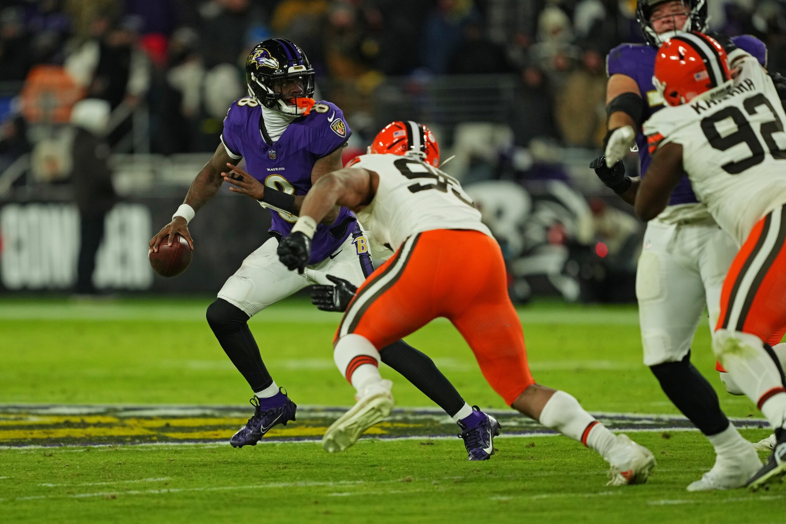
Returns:
[[[314,184],[277,250],[288,268],[303,268],[314,227],[333,205],[357,212],[376,242],[395,249],[360,286],[334,338],[336,366],[357,389],[358,403],[325,432],[323,447],[348,448],[390,413],[391,382],[380,377],[377,350],[387,338],[442,316],[461,332],[506,404],[599,452],[611,466],[609,485],[646,482],[655,466],[651,452],[612,434],[571,395],[534,382],[501,249],[461,186],[428,157],[388,154],[398,142],[392,136],[386,144],[380,135],[371,150],[383,154],[361,157]],[[497,421],[486,415],[479,427],[481,446],[493,452]]]

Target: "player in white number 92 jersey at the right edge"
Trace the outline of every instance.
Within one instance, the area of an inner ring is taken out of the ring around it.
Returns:
[[[713,350],[775,430],[773,454],[747,482],[757,489],[786,474],[786,379],[765,343],[786,326],[786,114],[753,57],[733,65],[697,32],[660,47],[653,82],[671,107],[645,123],[653,158],[635,207],[643,220],[655,218],[684,170],[741,245],[723,284]]]

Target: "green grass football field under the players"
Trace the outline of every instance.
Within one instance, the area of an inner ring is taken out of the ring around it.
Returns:
[[[468,463],[460,440],[428,436],[450,434],[439,415],[423,417],[441,429],[408,424],[405,414],[372,435],[382,438],[329,455],[314,441],[325,425],[314,410],[315,419],[271,432],[262,445],[231,448],[225,439],[251,415],[244,404],[251,392],[204,321],[210,301],[0,301],[0,522],[784,521],[786,486],[685,491],[713,461],[695,431],[631,433],[659,464],[647,485],[623,489],[605,487],[603,460],[566,437],[502,437],[492,460]],[[641,364],[635,308],[547,303],[522,308],[520,317],[538,382],[567,390],[593,412],[677,413]],[[332,363],[338,319],[296,300],[251,321],[271,374],[303,408],[354,403]],[[505,409],[450,323],[432,323],[408,341],[470,404]],[[747,399],[722,392],[706,327],[693,361],[729,416],[761,417]],[[382,373],[394,380],[399,407],[432,406],[389,368]],[[93,408],[72,404],[120,404],[112,408],[120,411],[149,404],[150,412],[132,422],[98,408],[85,415]],[[162,404],[169,415],[156,411]],[[178,409],[215,404],[233,411],[178,419]],[[388,438],[408,431],[409,439]],[[758,440],[769,431],[744,434]],[[274,442],[288,437],[307,440]],[[160,438],[167,441],[123,445]],[[187,443],[194,439],[201,443]],[[42,447],[56,443],[76,445]]]

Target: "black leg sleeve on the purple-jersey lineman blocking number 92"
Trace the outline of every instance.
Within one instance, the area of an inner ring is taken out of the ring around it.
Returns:
[[[669,400],[703,434],[715,435],[729,427],[729,419],[718,404],[718,394],[690,363],[690,353],[680,362],[665,362],[650,369]]]

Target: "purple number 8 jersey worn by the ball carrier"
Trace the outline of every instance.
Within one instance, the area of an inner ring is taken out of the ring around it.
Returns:
[[[339,149],[352,131],[341,109],[328,101],[319,101],[307,116],[289,124],[276,142],[266,140],[262,109],[253,98],[241,98],[230,106],[224,119],[221,141],[230,156],[246,161],[246,171],[265,184],[289,194],[304,195],[311,189],[314,162]],[[288,213],[273,213],[270,231],[285,237],[297,220]],[[336,252],[354,230],[357,219],[341,208],[332,226],[319,224],[311,241],[309,264],[318,264]]]

